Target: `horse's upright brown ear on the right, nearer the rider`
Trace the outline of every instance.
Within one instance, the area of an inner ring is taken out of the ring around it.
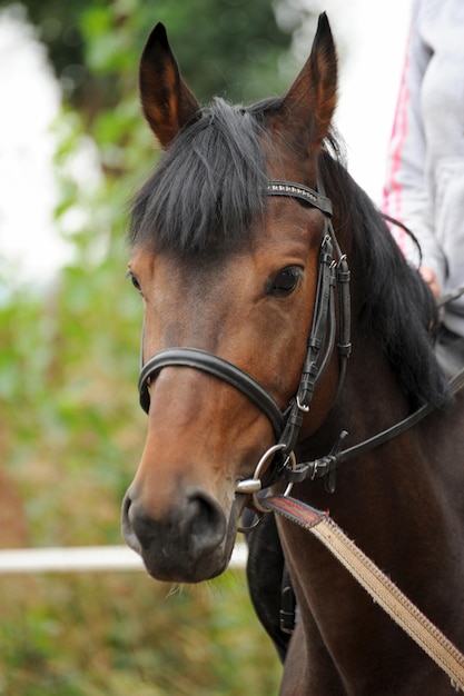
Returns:
[[[337,101],[337,56],[325,12],[319,14],[310,56],[284,97],[286,122],[300,141],[309,130],[309,151],[319,149],[328,133]]]

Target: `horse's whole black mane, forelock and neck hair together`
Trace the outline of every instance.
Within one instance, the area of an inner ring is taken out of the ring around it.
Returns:
[[[269,99],[245,109],[216,99],[198,112],[138,193],[130,243],[216,256],[249,243],[251,222],[266,209],[265,115],[279,103]],[[433,351],[437,316],[432,294],[348,175],[335,136],[326,142],[320,170],[334,218],[352,230],[355,258],[348,260],[358,320],[385,351],[412,405],[443,407],[450,397]]]

